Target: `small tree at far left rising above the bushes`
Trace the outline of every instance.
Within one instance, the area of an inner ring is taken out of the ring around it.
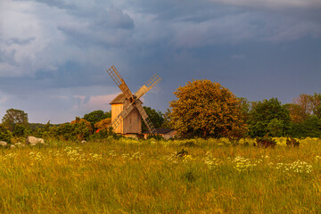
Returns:
[[[10,131],[13,131],[17,124],[21,126],[28,127],[28,114],[22,110],[9,109],[4,114],[2,119],[4,127],[8,128]]]

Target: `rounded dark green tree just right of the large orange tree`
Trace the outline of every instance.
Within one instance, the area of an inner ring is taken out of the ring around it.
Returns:
[[[250,111],[249,134],[252,137],[284,136],[291,128],[290,113],[277,98],[254,103]]]

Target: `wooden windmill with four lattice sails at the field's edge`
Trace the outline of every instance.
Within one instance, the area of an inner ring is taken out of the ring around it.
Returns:
[[[111,127],[114,131],[121,134],[141,134],[142,118],[149,132],[156,134],[156,129],[153,127],[146,111],[144,111],[143,103],[139,98],[151,90],[153,86],[156,86],[161,81],[161,78],[155,74],[133,95],[115,66],[111,66],[107,72],[122,92],[111,101]]]

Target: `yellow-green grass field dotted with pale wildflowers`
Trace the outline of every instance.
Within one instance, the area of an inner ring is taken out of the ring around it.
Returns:
[[[0,213],[321,213],[321,141],[277,141],[0,148]]]

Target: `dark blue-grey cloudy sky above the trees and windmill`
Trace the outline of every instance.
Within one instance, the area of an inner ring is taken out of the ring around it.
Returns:
[[[249,101],[321,93],[321,0],[0,0],[0,118],[57,124],[110,111],[120,90],[166,111],[210,79]]]

